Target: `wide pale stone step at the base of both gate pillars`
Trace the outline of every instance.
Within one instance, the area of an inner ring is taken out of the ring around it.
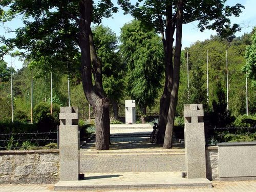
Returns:
[[[84,180],[59,181],[54,190],[114,190],[154,188],[198,188],[212,187],[208,179],[182,178],[181,172],[153,173],[92,173],[85,174]]]

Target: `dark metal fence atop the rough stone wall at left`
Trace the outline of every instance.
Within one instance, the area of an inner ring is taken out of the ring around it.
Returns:
[[[56,129],[55,129],[56,130]],[[24,144],[25,143],[25,144]],[[26,148],[29,144],[33,147],[45,146],[49,143],[57,143],[59,146],[59,129],[50,132],[35,133],[4,133],[0,134],[0,150],[18,150]],[[26,145],[26,146],[25,146]]]

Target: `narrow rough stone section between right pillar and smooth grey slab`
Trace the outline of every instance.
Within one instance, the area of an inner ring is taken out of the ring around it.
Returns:
[[[218,181],[220,179],[218,146],[208,146],[205,152],[206,178],[210,181]]]

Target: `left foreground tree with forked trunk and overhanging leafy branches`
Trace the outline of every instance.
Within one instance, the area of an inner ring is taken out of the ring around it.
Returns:
[[[16,46],[30,52],[26,55],[36,59],[39,55],[74,58],[80,49],[83,91],[95,111],[96,149],[109,149],[109,98],[102,86],[101,62],[97,57],[91,23],[100,23],[102,16],[109,17],[117,8],[111,1],[1,1],[8,7],[1,17],[12,19],[23,15],[25,27],[16,31],[16,38],[7,39],[6,45]],[[2,7],[1,7],[2,8]],[[94,78],[92,78],[92,76]]]

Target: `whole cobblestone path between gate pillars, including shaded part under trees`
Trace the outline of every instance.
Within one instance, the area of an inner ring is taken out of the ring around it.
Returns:
[[[164,150],[151,144],[149,137],[113,137],[109,151],[96,151],[95,143],[81,150],[83,173],[183,172],[184,148]]]

